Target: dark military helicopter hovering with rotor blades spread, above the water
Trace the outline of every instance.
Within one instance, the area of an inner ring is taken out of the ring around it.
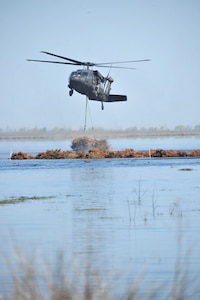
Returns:
[[[118,68],[118,69],[135,69],[125,66],[113,66],[116,64],[125,64],[125,63],[137,63],[149,61],[150,59],[140,59],[132,61],[120,61],[120,62],[109,62],[109,63],[91,63],[91,62],[82,62],[75,59],[71,59],[65,56],[60,56],[46,51],[41,51],[42,53],[63,59],[65,61],[51,61],[51,60],[37,60],[37,59],[27,59],[28,61],[34,62],[46,62],[54,64],[64,64],[64,65],[74,65],[74,66],[83,66],[83,69],[74,71],[70,74],[69,77],[69,95],[72,96],[74,90],[80,94],[86,95],[89,100],[95,100],[101,102],[102,110],[104,109],[103,102],[118,102],[118,101],[127,101],[126,95],[113,95],[110,94],[111,84],[113,83],[112,77],[104,77],[99,71],[92,70],[90,67],[98,68]],[[68,62],[66,62],[68,61]]]

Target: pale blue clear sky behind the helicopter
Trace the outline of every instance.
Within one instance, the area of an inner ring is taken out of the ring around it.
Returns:
[[[199,0],[1,0],[0,44],[2,129],[84,126],[85,97],[67,87],[76,66],[26,61],[51,59],[41,50],[97,63],[151,59],[111,70],[111,92],[128,101],[104,111],[89,101],[88,127],[200,124]]]

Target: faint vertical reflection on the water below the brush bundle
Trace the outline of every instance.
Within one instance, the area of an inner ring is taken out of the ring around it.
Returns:
[[[105,242],[110,238],[104,220],[110,214],[113,169],[91,166],[71,169],[70,173],[72,188],[80,194],[73,202],[74,252],[83,256],[83,261],[91,262],[92,257],[96,259],[104,252]]]

